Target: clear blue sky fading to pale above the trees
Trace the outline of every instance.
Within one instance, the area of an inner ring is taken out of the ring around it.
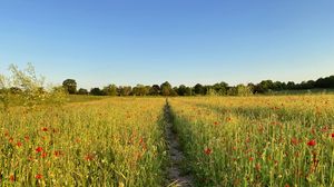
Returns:
[[[0,71],[79,87],[334,75],[333,0],[0,0]]]

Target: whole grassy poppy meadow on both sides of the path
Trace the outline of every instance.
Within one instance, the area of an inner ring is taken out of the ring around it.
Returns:
[[[334,186],[333,95],[175,97],[168,106],[91,97],[11,107],[0,114],[0,181],[181,186],[168,176],[171,128],[184,155],[176,167],[194,186]]]

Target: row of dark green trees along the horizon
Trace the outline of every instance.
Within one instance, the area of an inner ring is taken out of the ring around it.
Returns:
[[[66,79],[62,87],[70,95],[92,95],[92,96],[249,96],[255,94],[267,94],[283,90],[303,90],[303,89],[331,89],[334,88],[334,76],[318,78],[317,80],[282,82],[273,80],[263,80],[258,83],[229,86],[222,81],[214,85],[196,83],[194,87],[180,85],[173,87],[168,81],[161,85],[137,85],[116,86],[110,83],[102,88],[91,88],[90,90],[77,89],[75,79]]]

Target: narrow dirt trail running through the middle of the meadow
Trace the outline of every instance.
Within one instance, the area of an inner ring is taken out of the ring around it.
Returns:
[[[169,184],[170,186],[180,187],[193,187],[193,177],[189,174],[184,174],[181,170],[181,165],[184,165],[184,152],[179,145],[178,135],[173,129],[173,116],[170,112],[170,106],[166,99],[165,106],[165,119],[166,119],[166,140],[168,144],[170,165],[167,168]]]

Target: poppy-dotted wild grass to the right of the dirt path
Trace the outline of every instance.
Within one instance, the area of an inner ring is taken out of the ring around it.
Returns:
[[[170,99],[198,186],[333,186],[334,97]]]

